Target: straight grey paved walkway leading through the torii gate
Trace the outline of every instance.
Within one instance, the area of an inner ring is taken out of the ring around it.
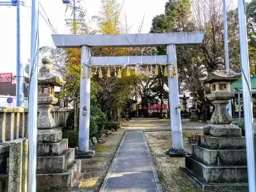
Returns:
[[[162,192],[143,131],[126,131],[100,192]]]

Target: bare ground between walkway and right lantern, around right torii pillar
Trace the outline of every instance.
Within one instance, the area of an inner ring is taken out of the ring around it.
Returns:
[[[186,150],[191,151],[187,137],[201,134],[202,130],[183,131],[183,143]],[[166,155],[166,150],[172,146],[172,136],[170,132],[146,132],[146,139],[157,174],[164,192],[200,192],[189,178],[179,168],[185,166],[185,158],[170,158]]]

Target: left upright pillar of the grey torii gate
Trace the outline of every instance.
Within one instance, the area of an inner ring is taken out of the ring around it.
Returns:
[[[79,152],[89,152],[90,134],[90,98],[91,98],[91,79],[89,76],[89,57],[90,47],[82,46],[81,49],[81,76],[80,76],[80,113],[79,113]],[[86,64],[86,65],[84,65]],[[84,65],[84,66],[83,66]],[[84,76],[82,72],[84,69]]]

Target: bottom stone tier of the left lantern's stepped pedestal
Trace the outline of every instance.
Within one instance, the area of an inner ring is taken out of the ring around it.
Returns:
[[[36,191],[69,191],[77,185],[81,173],[81,160],[75,160],[71,167],[63,173],[36,175]]]

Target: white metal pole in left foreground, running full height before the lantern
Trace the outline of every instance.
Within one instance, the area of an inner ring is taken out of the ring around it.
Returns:
[[[38,73],[38,0],[31,6],[30,84],[29,84],[29,192],[36,192],[36,147],[37,147],[37,73]]]

